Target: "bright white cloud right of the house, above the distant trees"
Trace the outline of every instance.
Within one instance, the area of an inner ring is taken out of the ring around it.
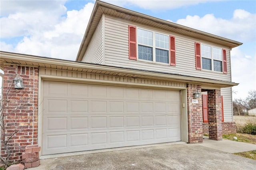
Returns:
[[[256,90],[256,54],[246,55],[240,47],[231,51],[232,81],[240,83],[233,87],[233,99],[245,99],[249,90]]]

